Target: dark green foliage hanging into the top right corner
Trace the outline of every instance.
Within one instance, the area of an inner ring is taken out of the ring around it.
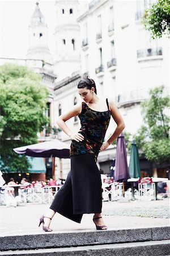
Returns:
[[[170,34],[170,0],[158,0],[145,11],[142,20],[152,39]]]

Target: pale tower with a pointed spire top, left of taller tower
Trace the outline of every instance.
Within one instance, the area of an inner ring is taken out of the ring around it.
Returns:
[[[39,3],[36,3],[35,11],[31,16],[28,26],[28,37],[29,46],[27,58],[52,63],[52,57],[48,48],[48,27],[40,11]]]

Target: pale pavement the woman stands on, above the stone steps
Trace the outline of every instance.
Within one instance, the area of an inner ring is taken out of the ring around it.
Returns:
[[[48,204],[22,204],[16,208],[0,206],[1,236],[44,233],[41,226],[38,228],[39,217],[48,207]],[[103,202],[104,222],[109,230],[169,226],[168,214],[169,199],[129,203]],[[54,233],[94,231],[92,216],[93,214],[84,214],[81,224],[78,224],[56,214],[50,227]]]

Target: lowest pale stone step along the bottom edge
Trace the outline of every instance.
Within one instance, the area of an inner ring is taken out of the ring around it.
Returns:
[[[94,245],[80,246],[70,248],[55,248],[55,249],[39,249],[39,250],[24,250],[24,251],[3,251],[0,255],[29,255],[29,256],[159,256],[169,255],[169,241],[152,241],[152,242],[134,242],[134,243],[117,243],[114,245]]]

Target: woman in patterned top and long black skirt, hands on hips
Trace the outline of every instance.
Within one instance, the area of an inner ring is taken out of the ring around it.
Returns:
[[[78,93],[83,102],[60,115],[57,121],[58,126],[71,138],[71,171],[50,209],[40,218],[45,232],[52,231],[49,224],[56,212],[79,223],[83,213],[94,213],[96,229],[107,229],[101,217],[101,177],[96,166],[97,155],[118,137],[125,124],[112,101],[97,97],[94,80],[88,77],[80,80]],[[72,133],[65,122],[76,115],[79,116],[81,128],[77,133]],[[111,137],[103,142],[111,115],[117,127]]]

